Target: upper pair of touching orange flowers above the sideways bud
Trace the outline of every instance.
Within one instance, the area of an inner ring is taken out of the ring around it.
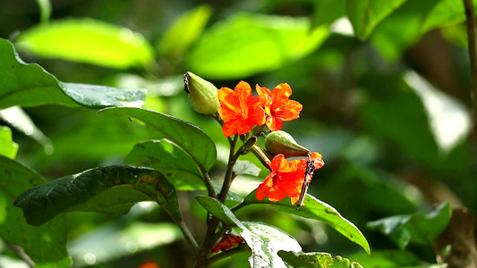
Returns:
[[[283,121],[292,121],[300,117],[302,105],[288,99],[292,88],[288,84],[279,84],[273,88],[256,86],[259,96],[252,96],[247,82],[240,81],[232,90],[220,88],[217,96],[220,106],[218,114],[225,121],[222,131],[226,137],[245,134],[255,125],[267,124],[272,131],[281,130]]]

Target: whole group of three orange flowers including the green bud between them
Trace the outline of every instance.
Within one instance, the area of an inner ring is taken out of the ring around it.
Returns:
[[[283,131],[283,121],[292,121],[300,117],[302,105],[290,100],[292,88],[286,83],[273,88],[263,88],[257,85],[258,96],[252,96],[248,83],[240,81],[232,90],[220,88],[217,91],[219,102],[218,114],[225,121],[222,132],[226,137],[235,134],[243,135],[253,129],[255,125],[266,124],[269,130],[276,135],[268,134],[265,146],[267,152],[276,155],[268,169],[271,171],[255,193],[259,200],[268,197],[268,200],[277,202],[285,197],[291,197],[295,204],[300,197],[304,197],[311,181],[314,170],[323,166],[321,155],[312,153],[305,147],[299,146],[293,137]],[[285,157],[309,155],[308,159],[286,161]],[[314,165],[314,168],[313,168]],[[308,169],[307,169],[308,167]],[[306,178],[306,184],[303,184]],[[302,193],[303,191],[303,193]],[[302,199],[300,199],[302,203]],[[297,205],[297,209],[302,204]]]

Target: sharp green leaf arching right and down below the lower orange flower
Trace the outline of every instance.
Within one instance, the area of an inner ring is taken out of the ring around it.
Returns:
[[[364,248],[364,250],[366,250],[366,252],[370,253],[370,246],[368,245],[368,241],[362,235],[362,232],[358,230],[353,223],[349,222],[342,215],[340,215],[331,205],[328,205],[316,197],[312,197],[311,195],[307,194],[304,200],[305,205],[302,206],[300,210],[296,210],[294,206],[290,205],[289,197],[279,202],[272,202],[267,198],[260,201],[257,199],[257,197],[255,197],[255,191],[256,190],[252,191],[247,197],[245,197],[243,199],[243,203],[239,205],[268,204],[285,213],[324,222],[343,234],[347,239],[350,239],[354,243],[360,245],[362,248]]]

